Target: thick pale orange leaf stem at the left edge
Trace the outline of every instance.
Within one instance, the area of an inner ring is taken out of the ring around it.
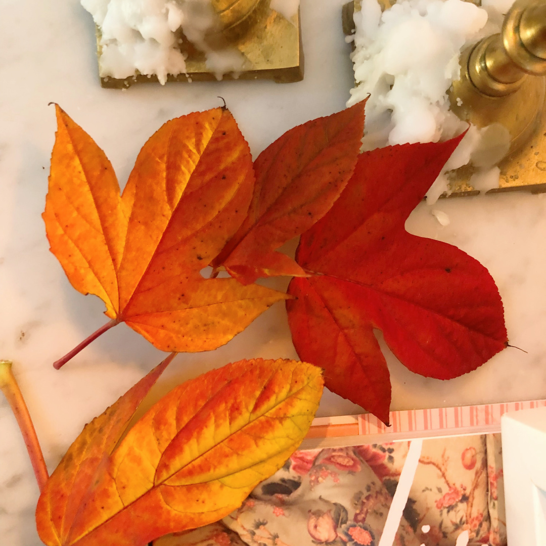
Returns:
[[[0,390],[7,398],[11,411],[17,419],[17,424],[21,429],[21,434],[25,445],[27,446],[28,456],[31,459],[34,476],[38,482],[40,491],[44,489],[48,481],[48,467],[45,466],[44,455],[41,452],[40,442],[34,430],[32,419],[28,413],[25,399],[21,394],[17,380],[11,371],[11,362],[9,360],[0,360]]]

